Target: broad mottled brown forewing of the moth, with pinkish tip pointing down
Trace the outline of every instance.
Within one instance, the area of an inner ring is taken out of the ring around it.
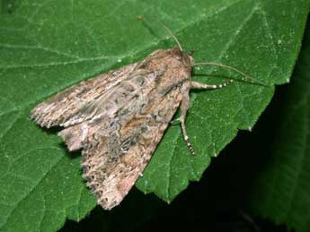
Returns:
[[[95,130],[83,150],[82,166],[87,185],[104,209],[118,205],[142,175],[181,99],[181,88],[174,88],[139,112],[98,125],[114,126]]]

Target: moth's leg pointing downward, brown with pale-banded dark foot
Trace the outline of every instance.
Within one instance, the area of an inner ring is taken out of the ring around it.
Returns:
[[[186,145],[188,146],[190,153],[192,155],[195,155],[194,149],[192,148],[192,145],[190,143],[189,135],[187,134],[186,127],[185,127],[185,118],[187,111],[190,107],[190,88],[188,90],[185,90],[182,94],[182,102],[181,102],[181,116],[180,116],[180,123],[182,127],[182,133],[184,140],[186,142]]]

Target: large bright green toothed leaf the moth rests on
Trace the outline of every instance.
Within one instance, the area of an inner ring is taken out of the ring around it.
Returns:
[[[84,186],[79,152],[31,122],[29,112],[59,90],[175,46],[153,18],[169,25],[197,61],[230,64],[261,82],[288,82],[309,1],[14,1],[0,16],[0,229],[53,231],[79,220],[95,201]],[[5,8],[5,7],[4,7]],[[6,8],[5,8],[6,9]],[[146,23],[136,20],[145,15]],[[206,73],[207,68],[196,73]],[[222,70],[210,73],[234,76]],[[203,82],[226,78],[195,77]],[[250,129],[273,88],[236,82],[191,94],[190,156],[170,126],[137,186],[172,201],[199,180],[238,129]]]

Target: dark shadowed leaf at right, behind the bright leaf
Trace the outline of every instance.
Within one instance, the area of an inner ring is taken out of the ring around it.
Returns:
[[[269,159],[257,173],[252,209],[297,231],[310,230],[310,27],[274,125]],[[272,129],[272,128],[271,128]]]

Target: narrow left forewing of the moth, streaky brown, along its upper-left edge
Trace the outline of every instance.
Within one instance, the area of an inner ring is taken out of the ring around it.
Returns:
[[[69,87],[33,108],[31,118],[39,125],[48,128],[55,125],[66,127],[81,123],[89,118],[89,114],[86,114],[90,110],[89,103],[127,79],[128,74],[136,67],[137,64],[130,64]]]

